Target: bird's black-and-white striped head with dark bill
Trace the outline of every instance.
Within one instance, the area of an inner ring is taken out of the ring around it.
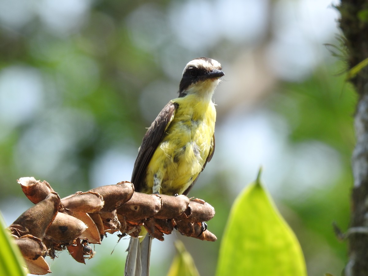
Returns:
[[[179,97],[188,94],[212,97],[224,75],[221,64],[208,57],[198,57],[185,66],[179,85]]]

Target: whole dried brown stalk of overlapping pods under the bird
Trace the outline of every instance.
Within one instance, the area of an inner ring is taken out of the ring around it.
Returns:
[[[85,263],[95,255],[88,244],[100,244],[106,233],[120,231],[138,237],[141,227],[152,237],[177,229],[200,240],[217,238],[204,227],[215,210],[201,199],[134,192],[128,181],[101,186],[60,199],[46,181],[34,177],[18,180],[26,197],[35,205],[15,220],[9,229],[18,244],[29,273],[50,273],[44,257],[67,249],[77,261]]]

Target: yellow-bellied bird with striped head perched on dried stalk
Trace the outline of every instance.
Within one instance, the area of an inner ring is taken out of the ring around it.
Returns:
[[[184,68],[178,98],[170,100],[146,131],[131,183],[146,194],[187,195],[215,151],[213,93],[224,76],[221,64],[207,57]],[[148,276],[152,238],[147,231],[130,238],[125,276]]]

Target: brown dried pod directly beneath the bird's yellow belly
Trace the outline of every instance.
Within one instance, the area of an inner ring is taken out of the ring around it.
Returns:
[[[190,202],[185,195],[173,197],[172,195],[159,194],[159,197],[162,200],[163,207],[154,216],[156,219],[172,219],[180,216],[188,208]]]

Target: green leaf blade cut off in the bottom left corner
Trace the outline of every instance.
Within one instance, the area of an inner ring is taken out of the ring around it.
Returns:
[[[26,266],[22,254],[5,227],[0,213],[0,275],[25,276]]]

